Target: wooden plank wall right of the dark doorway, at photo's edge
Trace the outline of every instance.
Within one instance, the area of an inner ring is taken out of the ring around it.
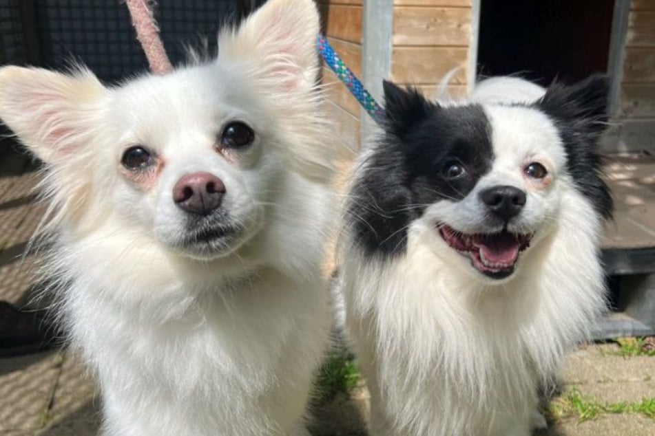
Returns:
[[[655,0],[632,0],[620,100],[621,142],[655,153]]]

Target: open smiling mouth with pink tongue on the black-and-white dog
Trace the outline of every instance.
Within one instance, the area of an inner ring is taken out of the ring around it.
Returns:
[[[530,235],[517,235],[503,230],[499,233],[466,235],[445,224],[439,234],[451,248],[469,257],[473,268],[493,279],[504,279],[514,272],[519,254],[530,246]]]

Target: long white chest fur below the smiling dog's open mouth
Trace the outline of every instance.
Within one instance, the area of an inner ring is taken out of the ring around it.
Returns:
[[[344,265],[349,333],[385,411],[374,434],[528,434],[539,382],[604,304],[599,220],[574,190],[564,200],[557,228],[506,287],[485,290],[443,263],[421,242],[434,230],[419,226],[406,254],[360,250]]]

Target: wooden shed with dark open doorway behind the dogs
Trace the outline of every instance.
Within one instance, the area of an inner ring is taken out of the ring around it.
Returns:
[[[457,66],[453,95],[484,76],[519,72],[548,85],[607,72],[615,127],[606,150],[655,153],[655,0],[318,3],[329,41],[376,98],[383,78],[433,94]],[[342,138],[356,148],[368,120],[344,87],[329,92]]]

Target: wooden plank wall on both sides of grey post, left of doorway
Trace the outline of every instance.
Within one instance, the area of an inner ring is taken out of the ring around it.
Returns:
[[[361,76],[363,0],[317,3],[324,34],[346,65]],[[375,7],[373,1],[367,7]],[[454,96],[466,94],[471,19],[471,0],[393,0],[391,79],[402,85],[417,85],[434,96],[439,80],[461,65],[448,91]],[[328,115],[340,139],[353,151],[359,149],[359,103],[327,67],[323,83],[331,102]]]

